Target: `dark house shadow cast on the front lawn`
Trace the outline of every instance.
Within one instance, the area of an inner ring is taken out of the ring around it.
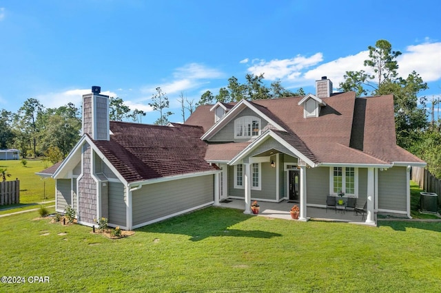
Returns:
[[[201,241],[207,237],[252,237],[269,239],[282,235],[263,230],[238,230],[229,227],[254,217],[244,215],[241,210],[230,208],[204,208],[193,213],[167,219],[156,224],[148,225],[136,232],[154,232],[188,235],[191,241]]]

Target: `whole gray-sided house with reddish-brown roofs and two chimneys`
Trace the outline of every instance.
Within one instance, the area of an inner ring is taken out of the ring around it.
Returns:
[[[227,198],[325,208],[355,197],[375,213],[410,217],[410,168],[425,162],[396,144],[393,96],[356,98],[316,81],[316,94],[201,105],[185,124],[109,121],[108,97],[83,96],[83,135],[40,175],[57,184],[56,209],[79,224],[107,217],[131,230]]]

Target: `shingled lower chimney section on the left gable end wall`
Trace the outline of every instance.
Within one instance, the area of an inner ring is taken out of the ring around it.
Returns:
[[[79,177],[79,209],[78,220],[94,224],[96,213],[96,182],[91,175],[92,149],[89,144],[83,145],[83,176]]]

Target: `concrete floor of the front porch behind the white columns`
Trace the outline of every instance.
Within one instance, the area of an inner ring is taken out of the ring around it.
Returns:
[[[263,217],[271,217],[277,219],[291,219],[289,210],[295,203],[283,200],[282,202],[258,202],[260,206],[260,212],[258,215]],[[299,203],[296,203],[300,206]],[[220,206],[223,208],[237,208],[239,210],[245,210],[245,200],[229,198],[223,202],[220,202]],[[366,215],[365,215],[366,217]],[[346,210],[344,213],[337,210],[337,212],[331,208],[316,208],[307,207],[307,219],[313,219],[316,221],[339,221],[352,224],[366,224],[365,220],[362,220],[361,215],[354,215],[353,210]],[[374,221],[376,223],[376,213],[374,214]],[[375,224],[374,224],[375,226]]]

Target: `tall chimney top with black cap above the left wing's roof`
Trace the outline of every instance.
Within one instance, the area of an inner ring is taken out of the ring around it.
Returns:
[[[101,87],[92,87],[92,94],[83,95],[83,133],[92,140],[110,140],[109,96],[100,94]]]

